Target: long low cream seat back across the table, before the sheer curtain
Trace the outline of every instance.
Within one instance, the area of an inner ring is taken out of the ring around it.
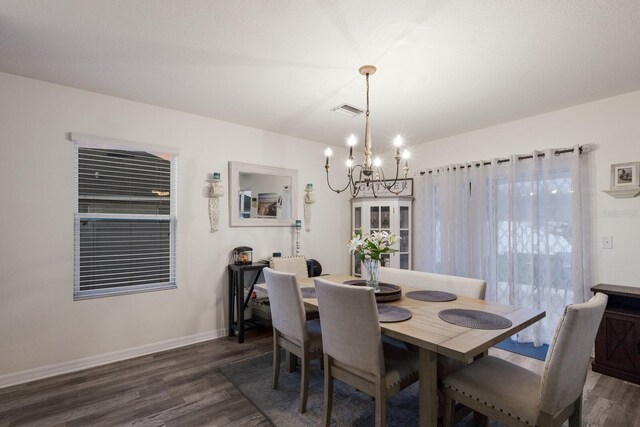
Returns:
[[[407,285],[428,291],[453,292],[468,298],[484,299],[487,289],[487,282],[480,279],[391,267],[380,267],[378,278],[385,283]]]

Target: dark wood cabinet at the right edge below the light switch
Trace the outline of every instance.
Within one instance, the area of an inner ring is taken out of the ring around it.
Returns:
[[[592,369],[640,384],[640,288],[599,284],[591,290],[609,296]]]

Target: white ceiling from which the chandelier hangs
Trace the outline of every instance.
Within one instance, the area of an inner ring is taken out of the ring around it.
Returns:
[[[640,90],[637,0],[0,0],[0,71],[342,145]],[[384,146],[384,145],[383,145]]]

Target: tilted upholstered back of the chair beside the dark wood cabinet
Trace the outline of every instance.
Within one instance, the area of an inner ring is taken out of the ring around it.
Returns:
[[[607,299],[607,295],[596,293],[585,303],[565,307],[544,363],[540,410],[555,414],[582,394]]]

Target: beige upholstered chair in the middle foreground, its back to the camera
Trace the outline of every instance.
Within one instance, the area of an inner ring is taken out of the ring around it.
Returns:
[[[314,281],[324,347],[323,425],[331,423],[338,379],[375,398],[375,425],[383,426],[387,397],[418,380],[418,355],[383,345],[373,289]]]

